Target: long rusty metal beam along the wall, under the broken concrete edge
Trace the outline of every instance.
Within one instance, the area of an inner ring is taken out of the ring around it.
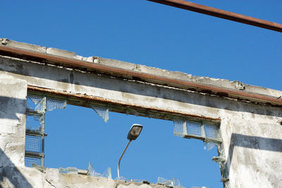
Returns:
[[[44,54],[40,52],[31,52],[23,49],[13,47],[0,46],[0,54],[11,57],[21,57],[23,59],[30,59],[49,64],[59,64],[74,69],[82,69],[83,71],[94,71],[103,74],[112,74],[114,76],[123,76],[125,78],[140,78],[149,83],[164,83],[166,86],[173,86],[178,88],[193,88],[198,92],[206,93],[205,91],[212,91],[214,95],[223,95],[230,98],[243,98],[255,102],[271,103],[274,105],[282,105],[282,98],[274,98],[269,95],[262,95],[257,93],[247,93],[241,90],[231,90],[227,88],[220,88],[217,86],[207,86],[201,83],[193,83],[191,81],[183,81],[175,78],[167,78],[153,74],[146,74],[138,71],[128,69],[120,69],[114,66],[106,66],[103,64],[95,64],[87,61],[80,61],[76,59],[69,59],[66,57],[56,57],[51,54]]]

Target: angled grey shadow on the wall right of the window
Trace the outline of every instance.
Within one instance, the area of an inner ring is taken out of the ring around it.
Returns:
[[[253,148],[264,151],[282,152],[281,139],[268,139],[259,136],[246,136],[243,134],[232,134],[231,142],[228,150],[228,160],[231,164],[233,158],[234,147]],[[228,168],[229,174],[230,166]]]

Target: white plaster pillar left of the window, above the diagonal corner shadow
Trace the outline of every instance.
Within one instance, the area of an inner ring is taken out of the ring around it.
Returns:
[[[23,166],[27,82],[0,75],[0,148],[17,166]],[[0,160],[0,165],[7,161]]]

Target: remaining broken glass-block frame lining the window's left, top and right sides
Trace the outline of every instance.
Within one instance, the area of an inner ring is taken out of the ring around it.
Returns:
[[[71,104],[79,105],[82,100],[72,101]],[[85,102],[82,102],[85,104]],[[81,105],[81,104],[80,104]],[[226,161],[223,154],[222,139],[219,129],[219,122],[206,122],[205,120],[197,120],[190,118],[178,119],[173,114],[159,114],[159,112],[148,112],[142,110],[131,109],[130,107],[111,106],[109,104],[96,104],[87,102],[88,107],[92,107],[105,122],[109,119],[109,110],[113,112],[122,112],[125,114],[135,114],[137,116],[153,117],[157,119],[172,120],[174,124],[173,134],[186,139],[200,139],[209,148],[217,146],[219,157],[213,158],[219,163],[221,168],[221,176],[223,181],[228,181],[228,175],[224,173],[226,169]],[[32,93],[27,95],[27,127],[25,137],[25,165],[32,167],[32,163],[44,166],[44,117],[46,111],[66,107],[66,99],[61,96],[46,96],[44,93]],[[102,110],[101,110],[102,109]],[[33,123],[32,123],[33,121]]]

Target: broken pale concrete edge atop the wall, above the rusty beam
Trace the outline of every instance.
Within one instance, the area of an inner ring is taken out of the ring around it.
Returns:
[[[237,90],[243,93],[264,95],[269,98],[276,99],[279,103],[282,103],[282,91],[273,90],[270,88],[263,88],[259,86],[247,85],[239,81],[228,81],[226,79],[209,78],[201,76],[192,76],[191,74],[185,74],[180,71],[167,71],[151,66],[145,66],[141,64],[132,64],[125,61],[118,61],[114,59],[105,59],[102,57],[82,57],[77,55],[75,52],[68,52],[63,49],[56,49],[52,47],[42,47],[39,45],[30,45],[24,42],[16,42],[8,40],[6,38],[0,38],[0,46],[13,47],[16,49],[22,49],[30,52],[39,52],[43,54],[50,54],[55,57],[63,57],[68,59],[75,59],[78,61],[87,61],[93,64],[102,64],[104,66],[111,66],[118,69],[135,71],[143,74],[149,74],[152,76],[161,76],[163,78],[177,79],[180,81],[189,81],[195,84],[201,84],[205,86],[214,86],[217,88],[223,88],[227,90]],[[233,94],[231,94],[232,96]],[[235,98],[236,96],[233,95]],[[247,98],[250,100],[250,98]],[[281,102],[280,102],[281,100]],[[256,100],[255,102],[264,102],[263,100]],[[275,102],[274,102],[275,104]]]

